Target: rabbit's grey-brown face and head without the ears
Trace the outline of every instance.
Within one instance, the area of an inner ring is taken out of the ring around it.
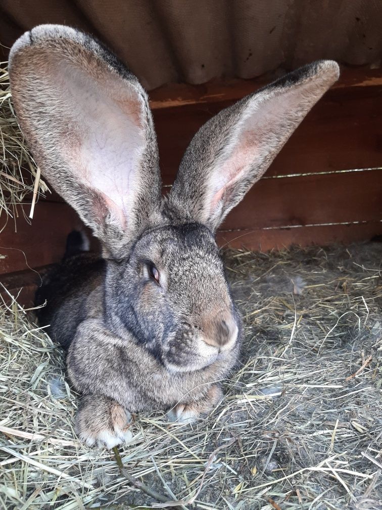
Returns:
[[[132,331],[170,370],[236,356],[240,319],[206,226],[145,231],[128,259],[109,261],[105,288],[113,329],[121,336]]]

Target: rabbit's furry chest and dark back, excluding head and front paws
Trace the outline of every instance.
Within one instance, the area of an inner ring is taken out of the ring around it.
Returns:
[[[160,362],[159,349],[149,350],[146,342],[120,324],[114,333],[104,307],[106,272],[107,261],[93,260],[88,254],[75,256],[46,275],[37,294],[38,304],[47,301],[39,322],[49,324],[50,337],[68,350],[69,376],[78,391],[98,393],[106,382],[110,390],[101,393],[112,398],[122,393],[118,400],[138,412],[173,407],[186,394],[190,401],[198,400],[210,384],[225,377],[236,361],[237,342],[200,370],[171,372]],[[102,379],[104,373],[107,381]]]

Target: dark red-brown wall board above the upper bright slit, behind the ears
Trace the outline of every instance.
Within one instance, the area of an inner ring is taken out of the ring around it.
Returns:
[[[199,127],[232,101],[153,112],[163,183],[172,184]],[[266,176],[382,166],[382,87],[333,89],[317,103]]]

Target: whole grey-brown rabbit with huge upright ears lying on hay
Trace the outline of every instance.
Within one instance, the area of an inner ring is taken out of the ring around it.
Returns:
[[[40,322],[68,348],[84,395],[79,437],[112,447],[129,412],[192,420],[221,399],[241,320],[213,232],[338,78],[319,61],[209,120],[160,196],[147,95],[100,43],[41,25],[10,54],[21,128],[52,186],[92,228],[103,258],[76,254],[44,279]]]

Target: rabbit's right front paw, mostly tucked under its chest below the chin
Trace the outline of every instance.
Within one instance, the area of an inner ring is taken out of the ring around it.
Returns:
[[[187,404],[178,403],[168,411],[167,415],[170,421],[193,423],[200,415],[209,413],[219,403],[222,396],[223,392],[220,386],[213,385],[200,400]]]

